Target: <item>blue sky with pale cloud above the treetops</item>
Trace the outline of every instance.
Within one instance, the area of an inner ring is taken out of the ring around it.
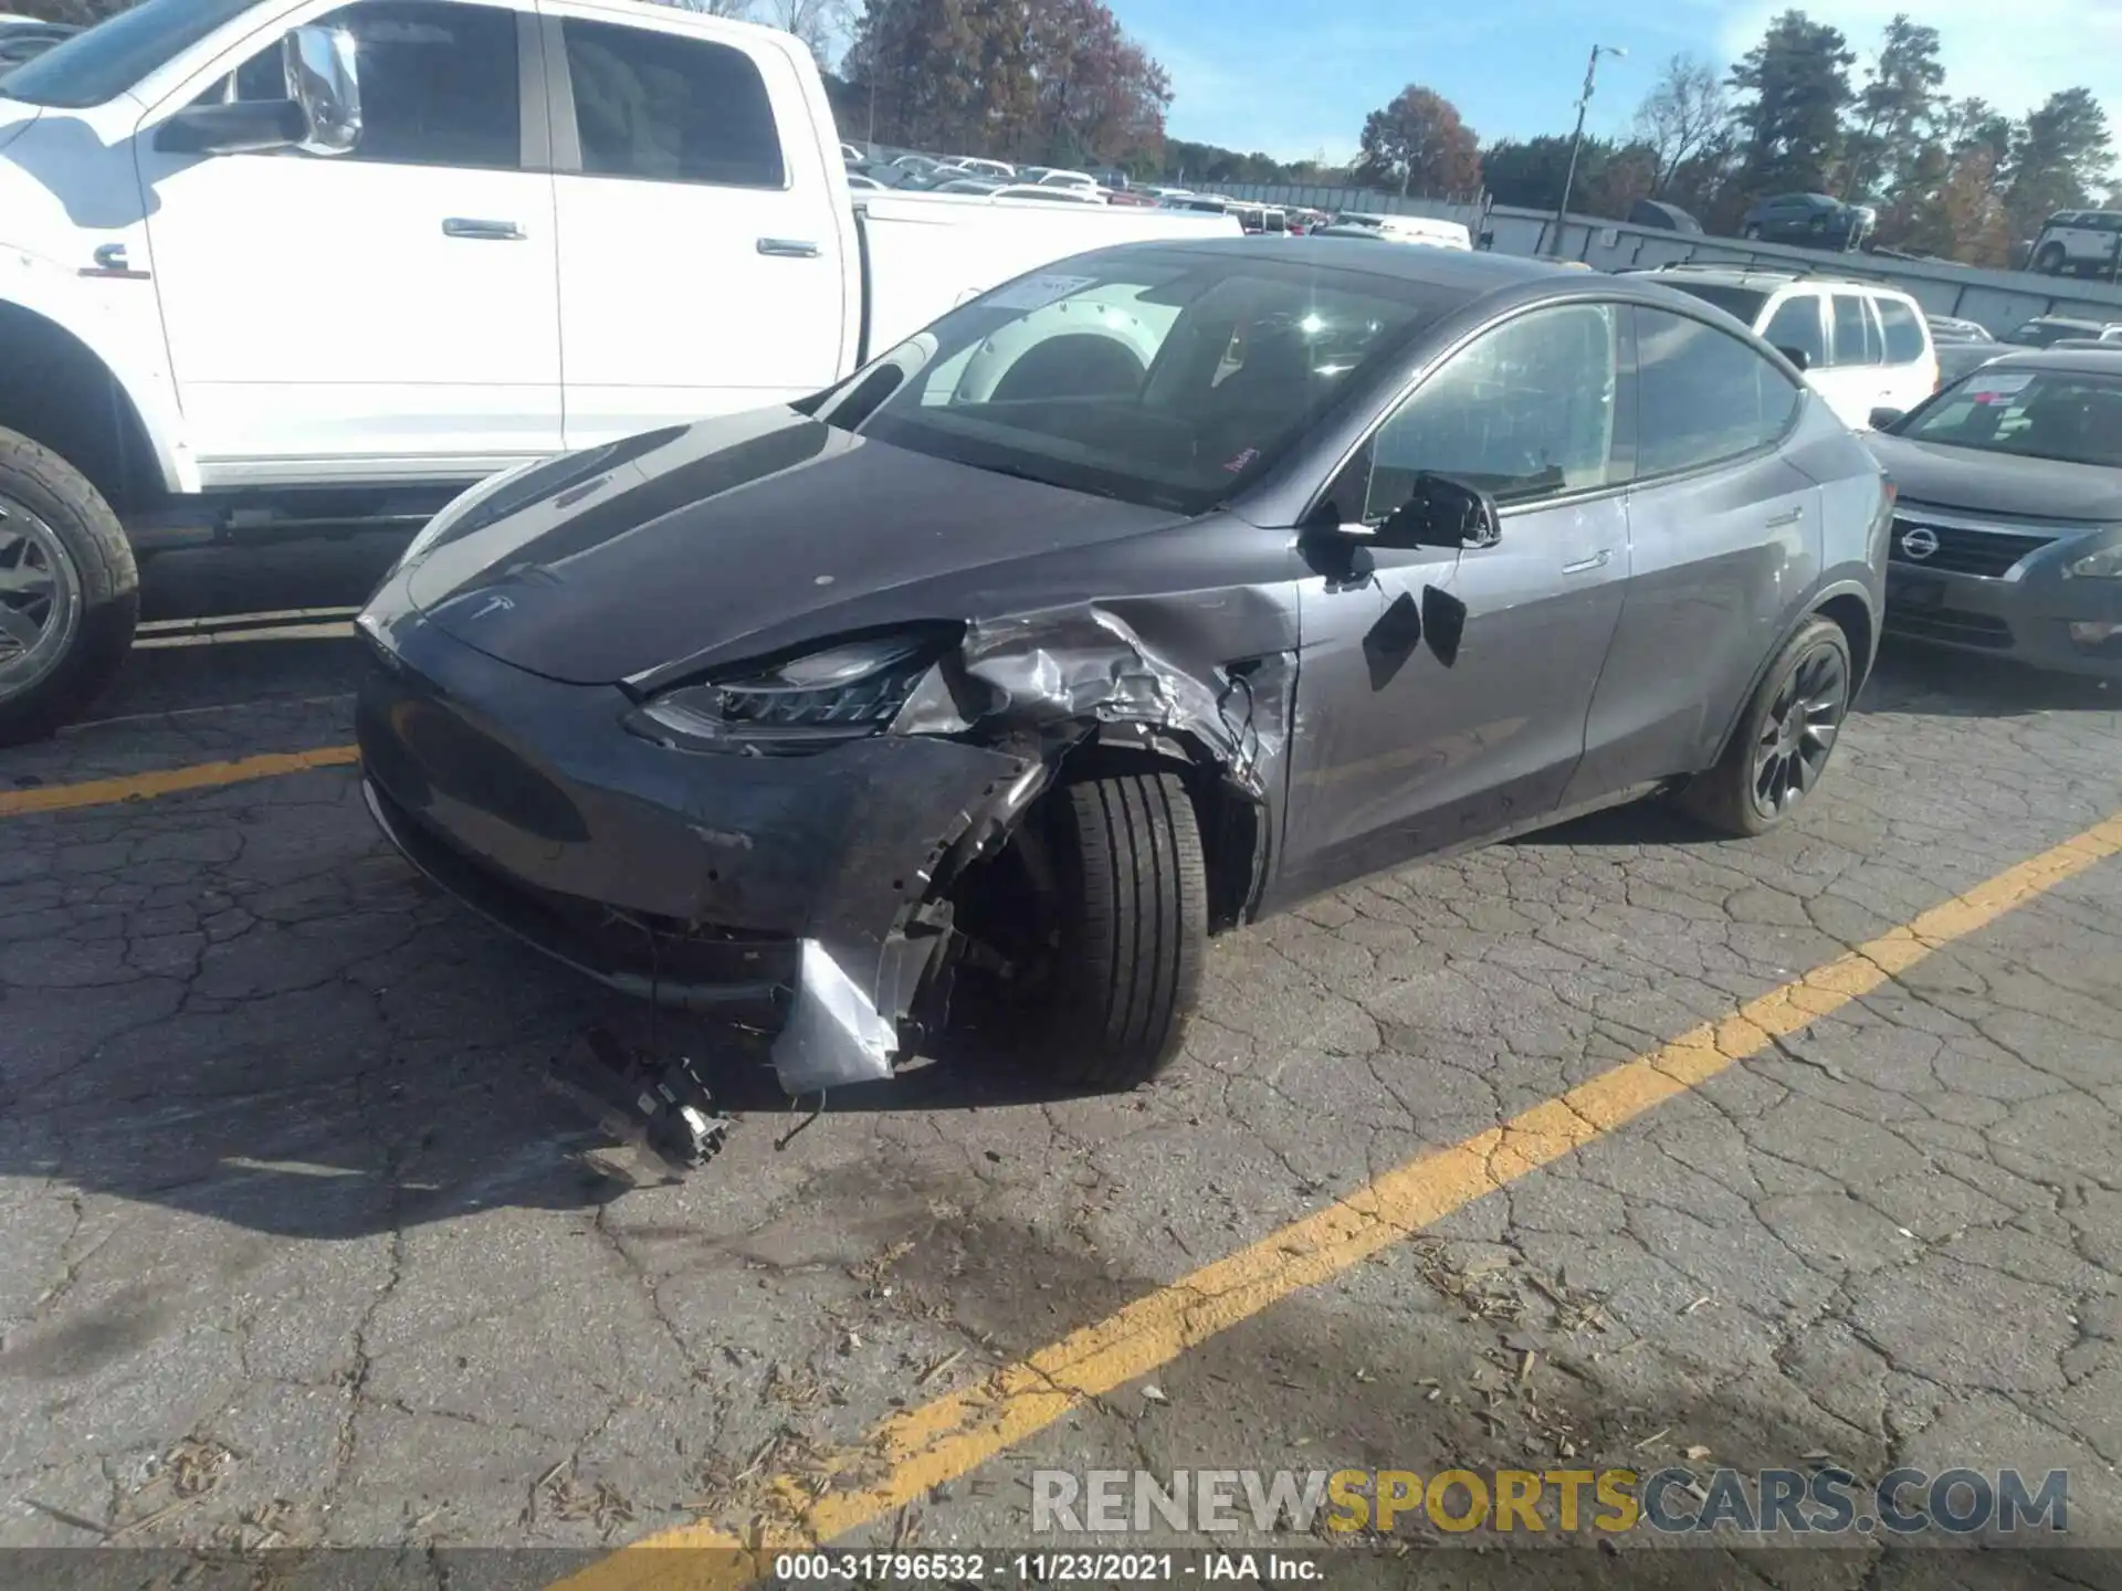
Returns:
[[[1171,72],[1176,138],[1277,159],[1356,153],[1367,110],[1407,83],[1451,100],[1483,142],[1570,129],[1592,45],[1600,59],[1585,132],[1625,134],[1666,59],[1725,66],[1782,8],[1774,0],[1110,0],[1120,25]],[[1785,0],[1787,2],[1787,0]],[[2024,115],[2086,85],[2122,146],[2122,0],[1823,0],[1804,4],[1869,55],[1895,11],[1944,36],[1946,89]],[[1859,64],[1861,72],[1861,64]]]

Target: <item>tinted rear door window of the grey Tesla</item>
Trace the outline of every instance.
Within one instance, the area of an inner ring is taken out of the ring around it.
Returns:
[[[1799,388],[1717,327],[1636,308],[1636,475],[1763,448],[1797,416]]]

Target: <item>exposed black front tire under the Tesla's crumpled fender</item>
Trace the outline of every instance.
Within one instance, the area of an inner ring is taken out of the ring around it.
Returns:
[[[1207,868],[1178,774],[1086,779],[1053,808],[1059,944],[1042,1046],[1063,1082],[1127,1090],[1180,1050],[1207,946]]]

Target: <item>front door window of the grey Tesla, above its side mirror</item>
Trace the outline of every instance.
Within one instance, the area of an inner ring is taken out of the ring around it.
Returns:
[[[1379,426],[1364,518],[1407,503],[1424,471],[1502,507],[1615,484],[1617,348],[1611,303],[1534,310],[1481,333]]]

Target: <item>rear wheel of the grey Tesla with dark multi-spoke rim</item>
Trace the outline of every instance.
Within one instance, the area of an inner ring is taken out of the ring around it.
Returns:
[[[1850,706],[1850,647],[1833,619],[1808,619],[1776,655],[1738,734],[1681,806],[1725,834],[1768,834],[1827,772]]]

